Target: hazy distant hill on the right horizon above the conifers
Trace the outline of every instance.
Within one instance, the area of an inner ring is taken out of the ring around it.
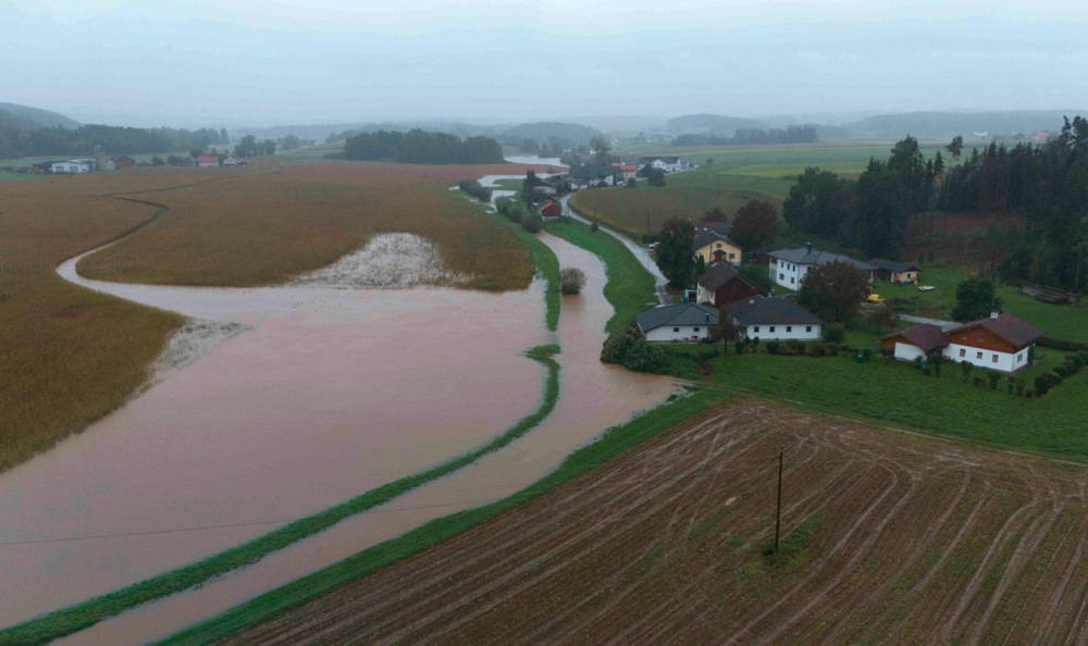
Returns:
[[[1062,117],[1072,120],[1084,110],[1030,110],[1019,112],[910,112],[869,116],[843,127],[856,138],[901,139],[912,135],[919,139],[951,139],[956,135],[987,133],[989,137],[1030,135],[1039,131],[1059,131]]]

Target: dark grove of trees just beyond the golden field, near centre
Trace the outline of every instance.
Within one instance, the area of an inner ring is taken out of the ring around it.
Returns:
[[[344,144],[347,159],[393,161],[407,164],[486,164],[502,163],[503,149],[489,137],[461,139],[446,133],[415,128],[407,133],[378,131],[348,137]]]

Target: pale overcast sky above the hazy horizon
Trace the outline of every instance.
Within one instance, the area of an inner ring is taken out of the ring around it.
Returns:
[[[1088,105],[1080,2],[0,0],[0,101],[116,125]]]

